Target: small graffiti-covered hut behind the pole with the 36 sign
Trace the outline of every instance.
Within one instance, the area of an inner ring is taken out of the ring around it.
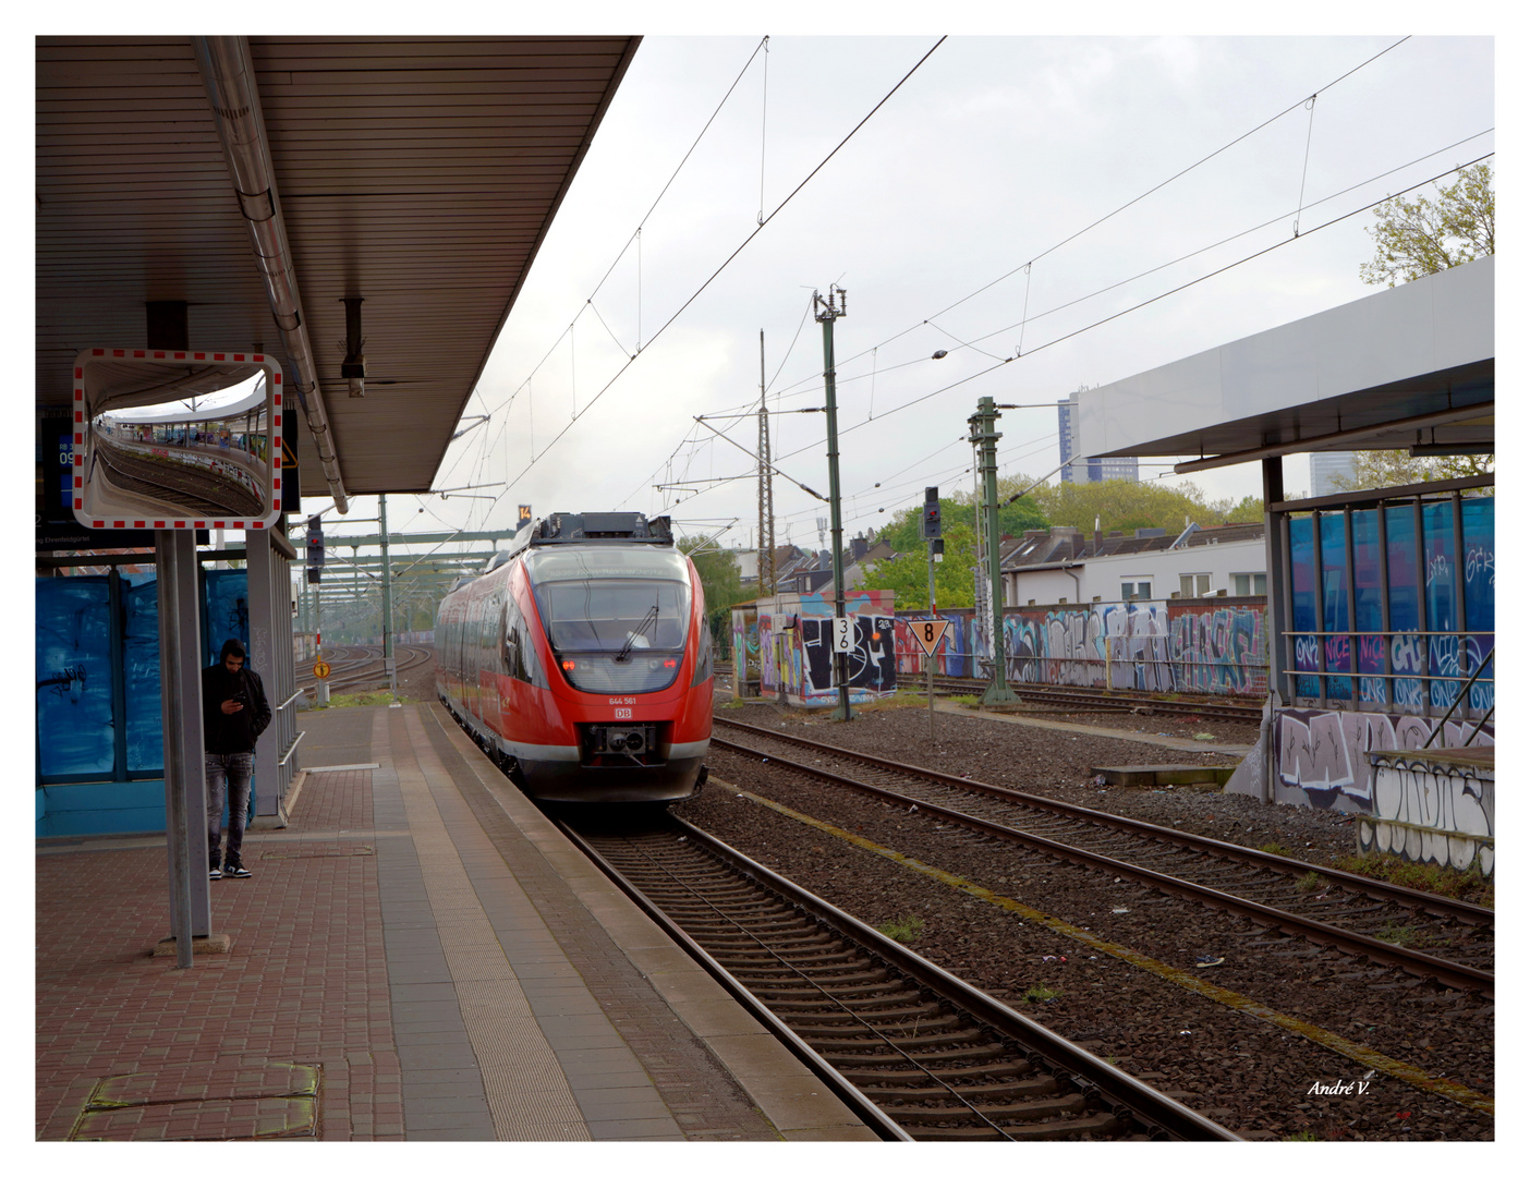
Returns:
[[[845,615],[854,620],[846,655],[851,704],[898,690],[898,652],[890,589],[851,589]],[[796,707],[838,701],[832,649],[834,595],[783,592],[733,606],[734,698],[771,698]]]

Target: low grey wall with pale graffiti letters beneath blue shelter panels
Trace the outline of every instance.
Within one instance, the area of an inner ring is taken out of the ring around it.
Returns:
[[[1342,813],[1377,813],[1368,753],[1423,748],[1435,722],[1418,715],[1281,709],[1273,724],[1274,799]],[[1458,748],[1473,727],[1475,722],[1450,719],[1435,745]],[[1472,741],[1475,747],[1493,742],[1492,724]]]

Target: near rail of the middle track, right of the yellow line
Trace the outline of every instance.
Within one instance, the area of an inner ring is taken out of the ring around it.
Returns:
[[[753,748],[745,748],[742,745],[730,745],[727,741],[719,741],[713,738],[715,745],[722,744],[722,747],[731,747],[737,752],[754,752]],[[757,753],[756,753],[757,755]],[[846,785],[849,788],[860,790],[874,797],[883,800],[904,802],[910,800],[901,793],[894,793],[892,790],[880,788],[878,785],[869,785],[863,781],[854,781],[848,776],[840,776],[838,773],[831,773],[823,768],[815,768],[812,765],[799,764],[789,761],[783,756],[768,758],[776,761],[776,764],[785,765],[794,771],[806,773],[823,781],[829,781],[837,785]],[[915,770],[918,771],[918,770]],[[1426,976],[1441,981],[1454,989],[1467,989],[1481,992],[1484,996],[1493,996],[1493,973],[1484,972],[1483,969],[1473,969],[1466,964],[1455,964],[1440,957],[1431,957],[1424,952],[1415,952],[1414,949],[1400,947],[1397,944],[1388,944],[1385,940],[1377,940],[1375,937],[1365,935],[1363,932],[1348,932],[1334,924],[1323,923],[1320,920],[1311,920],[1305,915],[1297,915],[1294,912],[1281,911],[1279,908],[1271,908],[1267,903],[1258,903],[1250,898],[1242,898],[1239,895],[1230,895],[1226,891],[1216,891],[1209,886],[1201,886],[1200,883],[1192,883],[1186,879],[1175,879],[1174,875],[1161,874],[1152,871],[1146,866],[1137,866],[1129,862],[1121,862],[1120,859],[1112,859],[1106,854],[1095,854],[1089,849],[1080,849],[1077,846],[1069,846],[1063,842],[1056,842],[1050,837],[1042,837],[1040,834],[1031,834],[1024,830],[1016,830],[1008,825],[999,825],[998,822],[990,822],[984,817],[975,817],[968,813],[961,813],[959,810],[950,810],[944,805],[935,805],[927,800],[915,802],[926,813],[944,817],[949,822],[956,822],[958,825],[965,825],[970,830],[976,830],[984,834],[990,834],[1007,842],[1019,842],[1033,849],[1039,849],[1056,859],[1063,859],[1065,862],[1076,863],[1079,866],[1109,871],[1112,874],[1126,875],[1138,883],[1154,888],[1155,891],[1163,891],[1164,894],[1178,895],[1181,898],[1190,898],[1204,903],[1210,908],[1232,912],[1235,915],[1242,915],[1256,923],[1278,928],[1290,935],[1300,935],[1314,944],[1322,944],[1327,947],[1336,947],[1340,952],[1351,952],[1356,955],[1369,957],[1377,964],[1385,964],[1395,969],[1403,969],[1415,976]]]

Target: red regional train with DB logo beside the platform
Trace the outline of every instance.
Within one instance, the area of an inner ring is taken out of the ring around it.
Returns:
[[[523,528],[441,602],[436,692],[532,797],[688,797],[711,741],[711,635],[670,520]]]

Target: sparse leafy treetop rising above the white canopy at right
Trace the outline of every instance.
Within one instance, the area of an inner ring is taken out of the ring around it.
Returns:
[[[1438,199],[1394,196],[1372,210],[1375,223],[1366,233],[1375,240],[1375,257],[1360,266],[1362,282],[1395,286],[1493,253],[1492,165],[1473,164],[1455,174],[1449,188],[1437,185]]]

